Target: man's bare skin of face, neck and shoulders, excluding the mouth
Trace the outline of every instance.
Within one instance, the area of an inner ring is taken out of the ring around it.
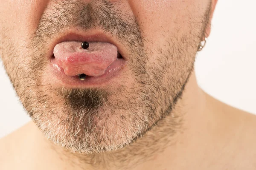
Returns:
[[[255,169],[256,116],[195,79],[216,3],[0,0],[0,56],[32,118],[0,141],[0,169]],[[49,73],[52,41],[70,29],[120,44],[128,65],[113,84],[73,88]]]

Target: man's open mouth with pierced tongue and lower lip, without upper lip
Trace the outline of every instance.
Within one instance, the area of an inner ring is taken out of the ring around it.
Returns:
[[[51,58],[55,76],[69,84],[106,82],[125,64],[117,47],[108,42],[87,42],[84,46],[79,41],[61,42],[55,45]]]

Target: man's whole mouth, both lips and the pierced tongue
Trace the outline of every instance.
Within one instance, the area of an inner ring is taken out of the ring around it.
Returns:
[[[88,42],[83,49],[82,42]],[[128,60],[125,47],[108,34],[70,32],[62,34],[50,46],[48,79],[59,87],[84,88],[110,85],[120,78]]]

